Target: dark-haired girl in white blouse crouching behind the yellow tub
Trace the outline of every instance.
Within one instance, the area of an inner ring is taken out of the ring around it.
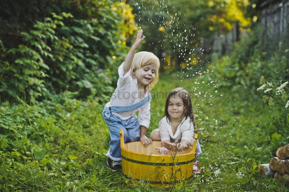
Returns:
[[[183,151],[192,146],[194,142],[194,119],[191,97],[188,91],[181,87],[176,88],[168,94],[165,114],[159,122],[159,128],[153,130],[149,138],[153,141],[161,141],[162,147],[155,147],[161,154],[166,154],[170,151]],[[193,165],[193,173],[196,174],[201,173],[198,170],[197,163],[197,157],[201,153],[201,146],[197,140]]]

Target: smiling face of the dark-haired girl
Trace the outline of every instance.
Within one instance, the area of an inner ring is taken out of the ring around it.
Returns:
[[[178,96],[172,97],[168,103],[168,114],[171,119],[177,120],[184,116],[184,102]]]

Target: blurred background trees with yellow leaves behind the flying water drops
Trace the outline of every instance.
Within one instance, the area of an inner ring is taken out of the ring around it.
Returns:
[[[203,39],[225,34],[236,23],[244,28],[250,26],[256,14],[252,11],[254,3],[255,0],[143,0],[130,5],[136,24],[148,37],[143,49],[164,59],[164,69],[169,69],[196,64]]]

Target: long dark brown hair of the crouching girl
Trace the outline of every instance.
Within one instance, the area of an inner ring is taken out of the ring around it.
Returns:
[[[190,121],[193,123],[193,125],[195,127],[196,123],[195,123],[194,113],[192,110],[191,96],[189,95],[188,91],[184,90],[184,88],[182,88],[182,87],[178,87],[176,89],[173,89],[166,97],[164,116],[166,116],[167,121],[170,121],[170,115],[168,114],[168,104],[169,104],[170,99],[172,97],[175,97],[175,96],[182,99],[182,101],[184,103],[184,112],[181,116],[184,115],[186,117],[186,119],[188,117],[190,117]]]

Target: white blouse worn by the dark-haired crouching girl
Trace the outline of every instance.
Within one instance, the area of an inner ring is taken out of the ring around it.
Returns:
[[[185,139],[191,143],[194,136],[194,124],[190,122],[190,117],[187,119],[184,117],[181,120],[181,123],[177,126],[175,134],[173,134],[172,126],[168,122],[166,116],[164,116],[159,123],[159,132],[162,141]]]

